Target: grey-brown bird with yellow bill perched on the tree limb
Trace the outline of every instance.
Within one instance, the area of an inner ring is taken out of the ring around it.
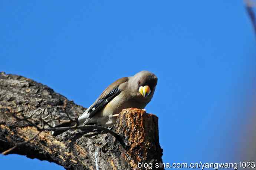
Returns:
[[[97,124],[110,127],[123,109],[144,109],[154,95],[157,81],[157,76],[150,71],[140,71],[114,81],[78,117],[78,126]]]

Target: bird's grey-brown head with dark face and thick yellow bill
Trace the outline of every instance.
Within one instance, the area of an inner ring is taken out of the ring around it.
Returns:
[[[129,88],[132,96],[141,103],[150,102],[157,85],[157,76],[150,71],[140,71],[130,79]]]

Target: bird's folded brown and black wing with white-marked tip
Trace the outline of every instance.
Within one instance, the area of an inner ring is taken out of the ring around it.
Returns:
[[[104,108],[112,99],[114,99],[118,94],[120,94],[121,89],[119,89],[120,84],[128,81],[128,77],[122,77],[121,79],[116,80],[114,83],[110,84],[98,97],[98,99],[92,104],[91,107],[86,110],[81,116],[85,116],[87,119],[83,122],[85,125],[99,110]]]

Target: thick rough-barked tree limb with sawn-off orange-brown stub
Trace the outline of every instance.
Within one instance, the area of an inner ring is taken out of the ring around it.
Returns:
[[[24,121],[11,116],[24,114],[33,122],[43,120],[51,126],[68,120],[63,111],[66,97],[55,93],[49,87],[31,79],[0,73],[0,152],[23,142],[37,133]],[[75,118],[85,108],[67,100],[66,112]],[[113,129],[118,133],[128,150],[108,133],[68,130],[56,137],[50,131],[43,131],[26,145],[17,147],[11,153],[29,158],[55,162],[65,169],[138,169],[137,163],[161,163],[163,150],[158,140],[158,118],[153,114],[135,108],[125,109],[119,115]],[[11,140],[10,140],[11,139]]]

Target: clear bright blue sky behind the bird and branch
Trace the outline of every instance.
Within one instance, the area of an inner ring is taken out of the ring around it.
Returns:
[[[84,107],[112,81],[152,71],[158,85],[146,109],[159,117],[165,163],[255,158],[246,149],[255,149],[247,125],[256,42],[242,0],[4,0],[0,15],[0,71]],[[63,169],[17,155],[0,164]]]

